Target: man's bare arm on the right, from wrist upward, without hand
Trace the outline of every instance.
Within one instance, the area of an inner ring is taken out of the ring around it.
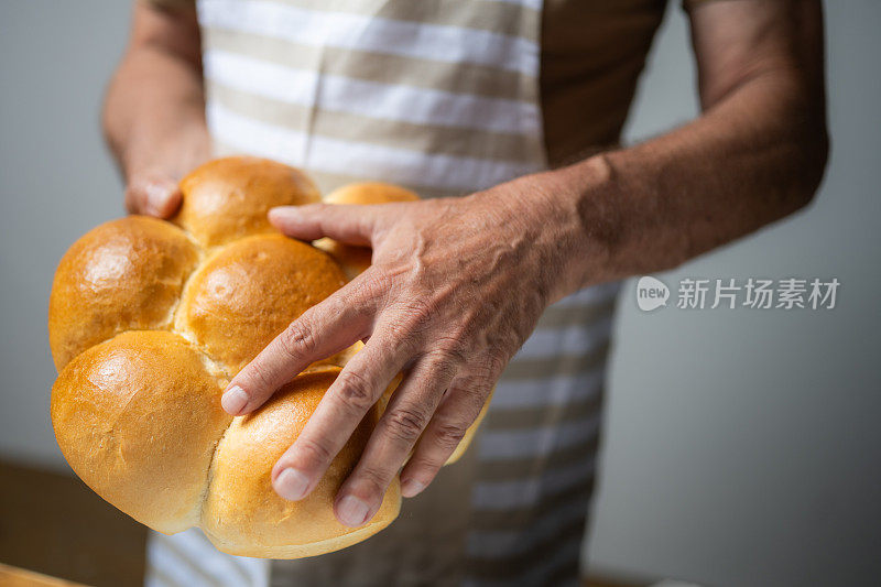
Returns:
[[[552,300],[676,267],[804,206],[823,177],[819,2],[706,2],[689,17],[703,115],[533,183],[539,224],[558,228],[536,236],[563,275]]]

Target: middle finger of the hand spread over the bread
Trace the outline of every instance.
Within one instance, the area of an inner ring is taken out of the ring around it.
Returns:
[[[389,333],[377,333],[346,365],[325,393],[294,444],[275,463],[272,480],[283,498],[306,497],[324,476],[368,410],[401,370],[406,354],[389,346]]]

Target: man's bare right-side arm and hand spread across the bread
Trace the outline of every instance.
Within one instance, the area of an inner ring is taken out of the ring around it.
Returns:
[[[705,111],[643,144],[460,200],[274,210],[296,238],[373,247],[368,271],[224,395],[227,411],[248,413],[308,363],[367,339],[274,467],[275,490],[308,494],[403,369],[337,496],[340,521],[365,523],[421,434],[402,491],[431,482],[550,302],[675,267],[804,206],[826,162],[822,22],[816,0],[694,8]]]

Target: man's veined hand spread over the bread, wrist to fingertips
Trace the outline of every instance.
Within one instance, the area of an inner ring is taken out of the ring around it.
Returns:
[[[292,237],[373,248],[367,271],[291,324],[222,398],[228,412],[249,413],[309,363],[366,340],[273,468],[279,494],[300,500],[315,488],[402,370],[403,381],[337,496],[337,518],[350,526],[366,523],[420,437],[401,474],[402,492],[415,496],[432,481],[558,296],[556,256],[566,239],[544,221],[551,199],[534,185],[525,177],[466,198],[270,213]]]

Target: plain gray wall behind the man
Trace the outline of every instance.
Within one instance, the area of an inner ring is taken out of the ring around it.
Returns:
[[[672,2],[677,4],[677,2]],[[48,421],[55,264],[122,214],[98,132],[126,2],[0,3],[0,457],[64,468]],[[827,6],[833,155],[805,213],[659,275],[831,278],[831,312],[641,313],[617,323],[598,570],[710,585],[874,585],[881,576],[881,3]],[[671,7],[629,140],[696,112],[687,24]]]

